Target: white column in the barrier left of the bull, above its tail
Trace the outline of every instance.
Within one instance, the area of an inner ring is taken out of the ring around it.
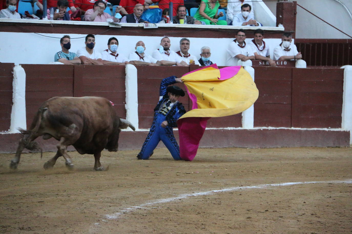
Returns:
[[[12,110],[9,133],[19,133],[17,128],[27,128],[26,124],[26,73],[20,65],[13,68]]]

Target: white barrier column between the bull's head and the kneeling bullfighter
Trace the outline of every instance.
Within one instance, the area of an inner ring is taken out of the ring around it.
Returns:
[[[126,120],[138,129],[138,85],[137,68],[132,64],[126,65]],[[132,131],[132,129],[130,129]]]

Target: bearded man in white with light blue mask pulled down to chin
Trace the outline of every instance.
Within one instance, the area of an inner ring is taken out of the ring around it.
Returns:
[[[161,39],[159,49],[156,49],[153,52],[153,58],[161,62],[163,62],[162,60],[165,60],[163,65],[166,66],[188,66],[188,64],[184,62],[180,56],[170,50],[170,45],[170,39],[167,36],[163,37]]]

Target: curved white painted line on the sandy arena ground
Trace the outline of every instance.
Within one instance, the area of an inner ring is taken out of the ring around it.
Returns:
[[[184,199],[184,198],[193,197],[193,196],[204,196],[204,195],[209,195],[209,194],[213,194],[213,193],[231,192],[231,191],[242,190],[242,189],[251,189],[251,188],[261,189],[261,188],[270,188],[271,186],[289,186],[289,185],[301,185],[301,184],[310,184],[310,183],[352,183],[352,179],[350,179],[350,180],[334,180],[334,181],[287,182],[287,183],[274,183],[274,184],[264,184],[264,185],[256,185],[256,186],[239,186],[239,187],[224,188],[224,189],[211,190],[211,191],[206,191],[206,192],[198,192],[198,193],[192,193],[192,194],[181,194],[181,195],[171,197],[171,198],[164,198],[164,199],[158,199],[155,201],[147,202],[147,203],[144,203],[139,206],[130,206],[130,207],[122,209],[119,212],[116,212],[113,214],[107,214],[107,215],[105,215],[105,217],[107,219],[118,219],[122,214],[127,213],[127,212],[131,212],[131,211],[134,211],[137,209],[157,208],[157,207],[150,207],[150,206],[162,204],[162,203],[167,203],[167,202],[171,202],[171,201],[177,201],[179,199]]]

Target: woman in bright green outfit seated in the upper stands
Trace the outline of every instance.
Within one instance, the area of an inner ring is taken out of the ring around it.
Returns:
[[[219,2],[217,0],[202,0],[194,18],[207,25],[227,25],[226,20],[218,20],[224,13],[218,14]]]

